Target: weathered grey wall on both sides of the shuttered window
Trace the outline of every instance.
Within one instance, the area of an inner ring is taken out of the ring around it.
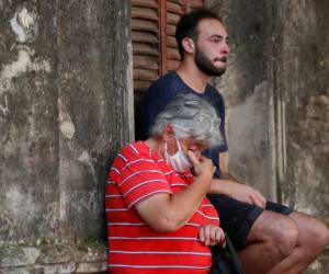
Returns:
[[[230,171],[329,221],[328,1],[206,4],[231,41],[214,80]],[[0,273],[105,270],[106,170],[134,134],[129,16],[129,1],[0,0]]]

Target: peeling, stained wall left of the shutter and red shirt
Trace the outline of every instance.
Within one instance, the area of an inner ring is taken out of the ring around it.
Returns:
[[[128,1],[0,1],[0,273],[104,270],[129,53]]]

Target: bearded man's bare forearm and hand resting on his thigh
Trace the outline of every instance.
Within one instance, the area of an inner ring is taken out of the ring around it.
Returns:
[[[238,201],[265,207],[265,197],[253,187],[238,182],[227,169],[228,152],[219,153],[219,168],[223,179],[213,179],[208,193],[223,194]]]

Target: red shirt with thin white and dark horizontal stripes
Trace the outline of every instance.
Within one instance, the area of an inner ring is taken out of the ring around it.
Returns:
[[[218,225],[219,219],[206,198],[189,222],[174,232],[154,231],[134,208],[158,193],[177,193],[192,181],[191,173],[175,173],[143,141],[123,149],[106,185],[109,273],[209,272],[211,252],[197,236],[201,226]]]

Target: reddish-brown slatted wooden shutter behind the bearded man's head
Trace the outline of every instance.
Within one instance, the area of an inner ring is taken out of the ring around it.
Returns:
[[[204,0],[132,0],[135,101],[160,76],[178,67],[174,32],[180,18]]]

